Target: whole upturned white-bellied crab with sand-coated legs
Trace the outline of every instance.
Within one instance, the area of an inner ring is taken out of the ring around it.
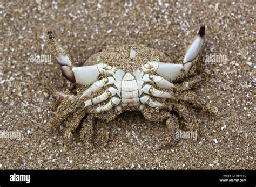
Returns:
[[[111,121],[124,111],[139,111],[150,121],[166,120],[169,127],[182,118],[188,128],[198,129],[190,105],[215,110],[191,91],[203,80],[202,75],[193,74],[193,65],[204,35],[205,26],[201,25],[183,60],[177,63],[170,63],[156,49],[123,45],[92,55],[86,61],[92,62],[90,66],[73,67],[71,56],[49,31],[48,45],[62,75],[78,86],[75,94],[55,91],[63,102],[50,124],[65,123],[66,137],[79,129],[82,138],[91,139],[95,118]]]

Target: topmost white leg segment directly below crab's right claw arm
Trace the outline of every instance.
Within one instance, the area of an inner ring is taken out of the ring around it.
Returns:
[[[165,78],[161,77],[161,76],[157,76],[157,75],[149,75],[149,74],[145,74],[142,78],[142,80],[144,82],[149,82],[151,84],[156,83],[156,85],[159,88],[165,88],[165,89],[169,89],[173,87],[173,84],[170,83],[169,81],[167,81]]]

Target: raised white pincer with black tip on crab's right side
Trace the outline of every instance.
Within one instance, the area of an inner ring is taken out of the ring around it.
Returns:
[[[200,52],[200,49],[203,45],[204,35],[205,35],[205,26],[201,25],[198,35],[196,36],[196,38],[194,38],[194,41],[188,47],[183,60],[183,66],[186,73],[188,73],[188,71],[190,71],[190,69],[193,66],[193,63],[191,61],[196,59],[198,53]]]

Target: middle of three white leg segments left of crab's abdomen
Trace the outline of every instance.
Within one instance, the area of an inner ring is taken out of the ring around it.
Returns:
[[[113,87],[110,87],[104,93],[102,93],[102,95],[99,95],[99,96],[97,96],[95,98],[92,98],[90,100],[86,100],[84,102],[84,105],[85,105],[85,107],[87,107],[87,106],[91,106],[91,105],[95,105],[97,103],[103,102],[104,100],[116,95],[117,91],[118,91],[117,89],[115,89]]]

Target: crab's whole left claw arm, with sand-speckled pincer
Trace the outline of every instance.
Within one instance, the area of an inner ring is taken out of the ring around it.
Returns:
[[[92,66],[72,67],[71,56],[59,46],[53,32],[49,31],[48,36],[48,45],[51,49],[51,53],[56,57],[60,70],[62,70],[62,75],[67,80],[89,85],[97,81],[100,74],[111,76],[114,74],[116,67],[111,67],[105,63]]]

